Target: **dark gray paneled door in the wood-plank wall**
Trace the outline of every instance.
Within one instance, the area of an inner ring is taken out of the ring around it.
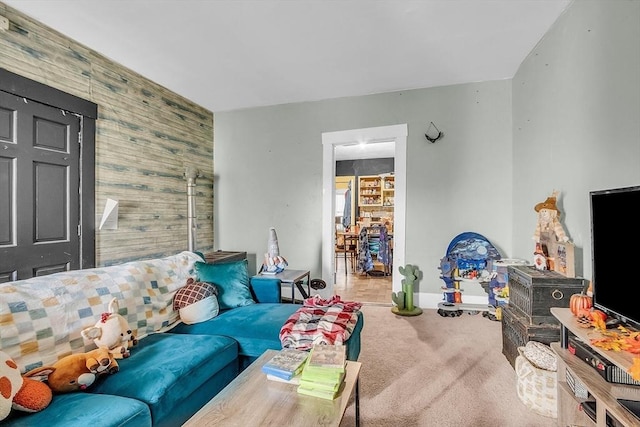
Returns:
[[[0,91],[0,281],[80,268],[81,118]]]

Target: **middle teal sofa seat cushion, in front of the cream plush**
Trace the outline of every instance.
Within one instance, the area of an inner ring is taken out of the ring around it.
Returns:
[[[238,373],[238,345],[227,337],[157,333],[140,340],[120,371],[100,378],[89,391],[138,399],[154,420],[170,418],[187,398],[218,372]],[[222,375],[220,389],[234,375]]]

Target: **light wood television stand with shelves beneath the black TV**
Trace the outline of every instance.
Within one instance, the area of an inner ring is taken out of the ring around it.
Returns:
[[[561,324],[561,341],[551,343],[558,359],[558,426],[637,427],[638,419],[625,409],[619,399],[640,401],[640,386],[607,382],[592,366],[567,350],[569,332],[587,344],[591,339],[600,338],[600,332],[593,328],[581,327],[568,308],[553,307],[551,314]],[[633,364],[633,355],[629,352],[590,347],[625,372]],[[586,391],[587,396],[576,397],[576,393],[567,383],[568,378],[579,385],[583,393]],[[584,401],[595,402],[595,420],[580,409]]]

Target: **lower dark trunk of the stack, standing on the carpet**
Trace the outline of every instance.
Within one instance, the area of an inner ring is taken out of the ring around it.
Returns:
[[[502,308],[502,354],[511,367],[515,368],[518,347],[524,347],[529,341],[544,344],[560,341],[560,325],[532,325],[524,316],[520,316],[512,307]]]

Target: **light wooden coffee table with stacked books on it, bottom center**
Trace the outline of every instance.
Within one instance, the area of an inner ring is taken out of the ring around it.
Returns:
[[[184,426],[339,426],[355,390],[360,425],[360,362],[347,361],[345,384],[335,400],[298,394],[297,385],[268,380],[261,368],[276,350],[267,350],[203,406]]]

